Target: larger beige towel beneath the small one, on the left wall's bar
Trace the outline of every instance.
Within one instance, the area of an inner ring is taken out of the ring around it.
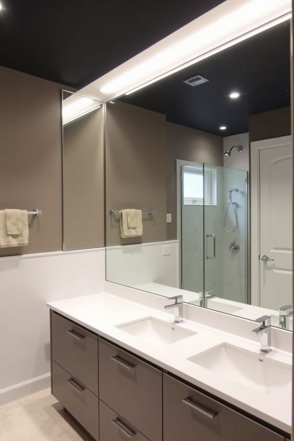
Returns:
[[[16,231],[13,230],[14,225],[9,224],[8,226],[6,224],[6,217],[7,213],[6,211],[9,210],[0,210],[0,248],[7,248],[7,247],[23,247],[28,244],[29,240],[29,224],[28,224],[28,213],[26,210],[17,210],[20,212],[20,218],[21,218],[21,232],[20,234],[8,234],[7,228],[9,231]],[[9,215],[8,215],[9,220]],[[12,222],[13,223],[13,222]],[[16,223],[17,224],[17,223]],[[12,228],[12,230],[10,229]]]

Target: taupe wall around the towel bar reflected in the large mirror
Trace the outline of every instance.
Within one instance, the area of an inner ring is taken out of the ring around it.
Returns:
[[[106,244],[166,240],[166,121],[160,113],[116,101],[106,109]],[[143,236],[122,239],[110,209],[153,209]]]

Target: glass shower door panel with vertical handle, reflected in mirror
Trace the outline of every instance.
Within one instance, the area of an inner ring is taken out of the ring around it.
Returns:
[[[247,172],[204,164],[203,306],[233,314],[248,303]]]

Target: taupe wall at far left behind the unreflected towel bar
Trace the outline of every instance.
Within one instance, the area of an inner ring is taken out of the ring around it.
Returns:
[[[29,217],[29,244],[0,256],[62,250],[61,89],[0,67],[0,209]]]

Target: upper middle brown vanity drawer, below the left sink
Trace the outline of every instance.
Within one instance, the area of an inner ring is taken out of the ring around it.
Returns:
[[[99,394],[149,440],[162,440],[162,372],[100,338]]]

